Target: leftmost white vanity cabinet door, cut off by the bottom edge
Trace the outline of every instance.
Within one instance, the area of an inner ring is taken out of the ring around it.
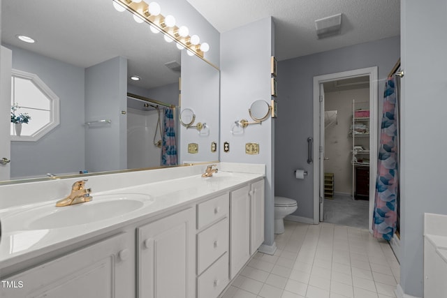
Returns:
[[[5,278],[1,297],[135,297],[135,236],[115,237]]]

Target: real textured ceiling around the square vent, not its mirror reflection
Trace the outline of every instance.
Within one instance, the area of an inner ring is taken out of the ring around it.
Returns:
[[[400,35],[400,0],[187,0],[219,32],[272,16],[278,60]],[[318,40],[315,20],[342,13],[342,33]]]

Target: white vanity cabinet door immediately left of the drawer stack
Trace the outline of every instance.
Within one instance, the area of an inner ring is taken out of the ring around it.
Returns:
[[[137,229],[138,297],[195,297],[195,223],[190,208]]]

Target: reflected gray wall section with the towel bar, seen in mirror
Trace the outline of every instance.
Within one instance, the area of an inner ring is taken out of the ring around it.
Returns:
[[[111,124],[85,127],[89,172],[127,168],[127,60],[115,57],[85,69],[85,120]]]

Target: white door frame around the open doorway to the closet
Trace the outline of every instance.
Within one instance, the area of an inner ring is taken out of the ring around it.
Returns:
[[[320,84],[348,77],[359,77],[369,75],[369,232],[372,232],[372,211],[374,209],[374,193],[376,189],[377,176],[377,149],[378,149],[378,100],[377,97],[377,66],[347,70],[341,73],[330,73],[314,77],[314,156],[319,156],[320,149]],[[346,131],[346,134],[349,133]],[[319,163],[314,162],[314,224],[319,222],[320,200],[318,198],[319,188]]]

